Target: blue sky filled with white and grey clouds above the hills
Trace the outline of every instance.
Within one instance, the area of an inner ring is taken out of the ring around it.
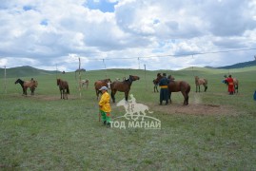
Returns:
[[[181,69],[254,60],[256,0],[0,0],[0,67]]]

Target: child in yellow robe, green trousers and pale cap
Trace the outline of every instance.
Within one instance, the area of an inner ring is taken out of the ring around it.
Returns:
[[[110,96],[108,94],[108,87],[102,86],[99,89],[102,92],[101,100],[99,102],[101,119],[104,124],[110,125]]]

